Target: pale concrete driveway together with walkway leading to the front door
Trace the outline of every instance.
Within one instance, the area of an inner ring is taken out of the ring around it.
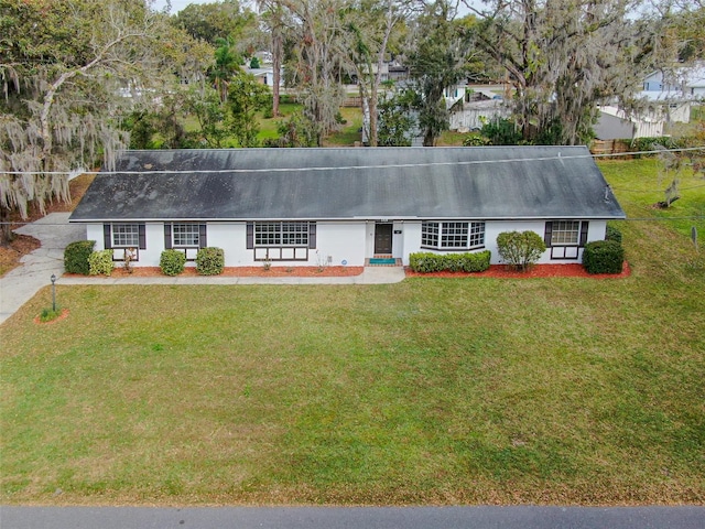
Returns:
[[[401,267],[366,267],[359,276],[344,278],[256,278],[256,277],[159,277],[159,278],[63,278],[64,248],[69,242],[86,238],[86,228],[68,224],[68,213],[52,213],[46,217],[17,229],[42,242],[42,247],[22,258],[22,266],[0,278],[0,324],[14,314],[36,292],[51,284],[384,284],[404,279]]]

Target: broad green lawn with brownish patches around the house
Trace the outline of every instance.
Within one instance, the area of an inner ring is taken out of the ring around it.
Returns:
[[[661,214],[653,163],[603,166]],[[0,326],[0,500],[704,504],[705,266],[619,226],[627,279],[59,280],[66,320]]]

